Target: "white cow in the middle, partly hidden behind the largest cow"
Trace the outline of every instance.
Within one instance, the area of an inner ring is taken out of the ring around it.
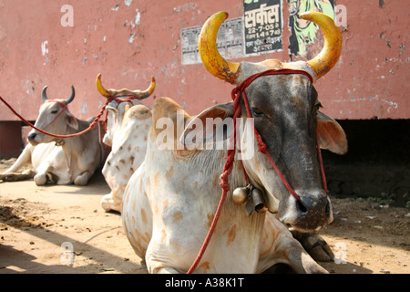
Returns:
[[[105,89],[101,74],[97,76],[98,92],[112,98],[107,105],[107,132],[103,142],[111,147],[102,173],[111,193],[104,195],[101,206],[106,211],[122,211],[122,197],[128,180],[147,152],[147,140],[151,128],[151,110],[141,103],[154,92],[155,78],[151,78],[149,89]]]

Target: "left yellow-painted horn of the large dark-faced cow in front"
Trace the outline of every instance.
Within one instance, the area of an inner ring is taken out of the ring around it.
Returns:
[[[231,63],[221,57],[216,44],[220,25],[228,16],[228,13],[224,11],[210,16],[200,30],[198,45],[202,63],[210,74],[231,84],[235,84],[240,74],[240,63]]]

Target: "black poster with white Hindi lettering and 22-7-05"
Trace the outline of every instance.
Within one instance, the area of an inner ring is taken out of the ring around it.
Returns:
[[[244,0],[245,54],[282,50],[282,0]]]

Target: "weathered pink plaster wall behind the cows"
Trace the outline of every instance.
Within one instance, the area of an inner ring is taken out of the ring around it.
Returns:
[[[241,17],[242,0],[126,2],[0,0],[0,95],[28,120],[36,120],[45,85],[50,98],[66,98],[74,85],[77,96],[69,109],[81,119],[97,115],[104,103],[95,87],[98,73],[107,88],[118,89],[146,89],[153,75],[155,96],[176,99],[191,114],[230,100],[231,85],[211,77],[201,64],[181,64],[180,30],[201,26],[220,10]],[[61,26],[63,5],[74,8],[72,27]],[[340,27],[338,64],[315,85],[323,111],[335,119],[409,119],[405,1],[340,0],[336,5],[346,6],[347,26]],[[285,0],[282,7],[282,51],[242,59],[290,60]],[[312,54],[321,46],[317,39]],[[1,120],[16,120],[3,104]]]

